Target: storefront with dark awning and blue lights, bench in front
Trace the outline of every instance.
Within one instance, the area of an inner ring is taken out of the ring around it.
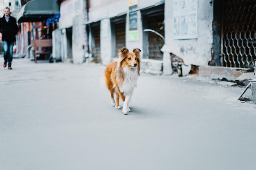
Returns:
[[[59,13],[57,1],[32,0],[23,5],[17,15],[17,22],[20,23],[17,40],[19,53],[27,53],[30,57],[31,40],[51,40],[52,31],[58,28]],[[49,51],[47,59],[52,53],[52,47],[49,47],[49,44],[47,44],[47,47],[35,47],[34,50],[41,51],[41,54]],[[30,58],[33,59],[34,57],[31,56]]]

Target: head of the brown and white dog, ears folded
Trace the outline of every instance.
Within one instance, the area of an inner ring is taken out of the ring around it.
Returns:
[[[119,59],[121,60],[121,65],[125,64],[131,68],[139,68],[140,64],[140,49],[133,49],[132,52],[129,52],[128,49],[122,48],[119,50]]]

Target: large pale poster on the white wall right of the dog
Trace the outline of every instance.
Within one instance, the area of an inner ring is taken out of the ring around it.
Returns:
[[[198,0],[173,0],[173,38],[198,38]]]

